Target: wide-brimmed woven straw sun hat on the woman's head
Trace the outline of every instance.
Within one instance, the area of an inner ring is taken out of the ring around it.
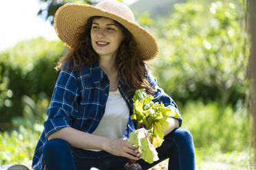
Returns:
[[[134,21],[134,14],[127,5],[116,0],[103,0],[96,6],[67,3],[58,8],[54,17],[54,28],[64,44],[73,49],[78,27],[85,25],[91,16],[105,16],[125,26],[138,43],[142,60],[151,60],[158,55],[156,39]]]

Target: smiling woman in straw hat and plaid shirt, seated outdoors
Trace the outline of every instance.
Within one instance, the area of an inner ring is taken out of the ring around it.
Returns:
[[[153,101],[177,110],[156,85],[145,61],[158,54],[155,38],[136,23],[131,10],[115,0],[92,5],[66,4],[54,27],[70,51],[61,69],[48,118],[34,153],[34,169],[122,169],[129,159],[149,169],[169,158],[169,169],[195,169],[191,134],[169,118],[160,160],[149,164],[126,138],[134,128],[132,97],[145,88]]]

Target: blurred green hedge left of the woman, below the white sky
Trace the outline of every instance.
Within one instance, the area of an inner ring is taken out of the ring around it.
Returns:
[[[0,53],[1,128],[12,127],[14,119],[38,122],[45,118],[58,76],[54,66],[64,52],[61,41],[35,38]]]

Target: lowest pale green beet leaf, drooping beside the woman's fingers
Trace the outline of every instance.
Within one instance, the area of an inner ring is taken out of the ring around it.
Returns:
[[[135,147],[138,147],[142,159],[146,162],[153,163],[156,160],[159,160],[158,152],[150,143],[149,132],[145,130],[145,128],[140,128],[131,132],[127,141],[135,145]]]

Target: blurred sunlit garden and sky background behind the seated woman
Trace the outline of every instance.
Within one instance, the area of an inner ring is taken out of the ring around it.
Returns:
[[[37,15],[50,1],[0,3],[0,165],[30,166],[47,118],[54,66],[67,52],[52,16]],[[193,134],[197,169],[253,169],[247,1],[124,2],[158,41],[159,55],[148,63]]]

